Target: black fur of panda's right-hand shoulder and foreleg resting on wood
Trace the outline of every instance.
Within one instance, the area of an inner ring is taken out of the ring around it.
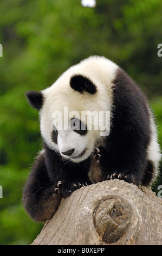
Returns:
[[[105,148],[99,147],[102,179],[119,176],[129,183],[148,185],[153,164],[148,164],[146,153],[151,139],[147,101],[123,70],[118,69],[113,83],[111,132],[105,139]]]

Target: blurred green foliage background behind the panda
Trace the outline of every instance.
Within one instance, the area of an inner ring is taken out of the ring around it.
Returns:
[[[92,54],[120,65],[146,93],[162,138],[161,0],[5,0],[0,4],[0,244],[29,245],[42,228],[22,207],[24,182],[41,149],[37,111],[27,90],[50,86]],[[157,193],[162,178],[154,184]]]

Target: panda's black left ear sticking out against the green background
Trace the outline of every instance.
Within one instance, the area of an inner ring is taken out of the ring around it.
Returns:
[[[40,110],[43,106],[43,94],[41,92],[35,92],[34,90],[30,90],[25,94],[27,96],[28,102],[31,107]]]

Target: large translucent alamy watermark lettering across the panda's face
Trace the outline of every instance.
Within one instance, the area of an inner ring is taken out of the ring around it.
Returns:
[[[68,107],[64,107],[63,113],[54,111],[51,118],[53,130],[94,130],[100,131],[100,136],[108,136],[110,132],[110,111],[81,111],[79,113],[69,112]]]

